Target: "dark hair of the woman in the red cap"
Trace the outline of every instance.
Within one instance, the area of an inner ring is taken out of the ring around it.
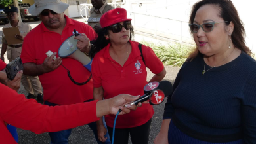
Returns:
[[[105,35],[109,35],[108,33],[108,27],[104,27],[97,31],[98,37],[95,41],[93,41],[93,45],[91,46],[91,51],[89,55],[91,58],[95,57],[95,54],[98,53],[100,50],[102,50],[104,47],[110,43],[110,39],[106,39]],[[133,40],[134,32],[133,32],[133,26],[130,29],[130,40]],[[128,42],[127,42],[128,43]]]

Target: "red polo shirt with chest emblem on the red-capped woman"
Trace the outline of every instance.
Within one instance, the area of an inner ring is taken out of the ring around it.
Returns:
[[[109,54],[110,44],[95,55],[92,64],[93,86],[104,89],[104,98],[109,99],[118,94],[131,94],[133,96],[144,94],[146,81],[146,66],[140,56],[139,43],[129,41],[132,46],[129,58],[121,67]],[[142,45],[142,53],[147,67],[152,73],[163,71],[163,63],[158,59],[152,48]],[[152,105],[143,104],[136,111],[127,115],[119,115],[116,128],[132,128],[141,126],[152,118],[154,110]],[[113,127],[115,115],[106,115],[106,124]]]

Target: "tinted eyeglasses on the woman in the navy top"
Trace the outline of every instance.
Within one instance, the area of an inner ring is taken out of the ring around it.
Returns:
[[[225,23],[228,21],[224,21],[224,22],[207,22],[207,23],[203,23],[202,25],[199,24],[189,24],[190,27],[190,31],[192,31],[192,33],[197,33],[200,29],[200,27],[202,27],[203,31],[205,33],[209,33],[211,31],[213,31],[213,27],[214,24],[219,24],[219,23]]]

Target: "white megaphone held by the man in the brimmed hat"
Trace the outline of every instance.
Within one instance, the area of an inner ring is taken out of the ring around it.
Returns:
[[[75,35],[71,35],[66,39],[60,48],[58,49],[58,56],[61,58],[74,58],[75,60],[78,60],[80,63],[83,64],[83,66],[88,69],[88,71],[91,72],[91,63],[93,60],[89,58],[85,53],[81,52],[77,48],[77,39],[74,39]]]

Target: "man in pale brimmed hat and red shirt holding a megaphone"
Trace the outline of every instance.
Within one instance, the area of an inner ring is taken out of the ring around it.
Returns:
[[[25,37],[21,58],[24,63],[24,74],[39,76],[45,105],[70,105],[93,99],[91,73],[77,60],[62,59],[56,54],[60,45],[72,35],[74,29],[81,33],[75,37],[79,40],[76,46],[81,52],[88,53],[90,41],[96,37],[95,31],[90,26],[64,15],[66,9],[68,4],[60,0],[35,0],[35,4],[28,9],[32,15],[39,14],[42,22]],[[45,54],[49,50],[54,52],[51,57]],[[54,56],[56,59],[53,60]],[[83,85],[74,84],[67,73],[70,73],[76,82],[89,81]],[[96,124],[88,125],[97,134]],[[49,133],[51,143],[58,144],[68,143],[70,134],[71,129]],[[96,140],[98,141],[97,136]]]

